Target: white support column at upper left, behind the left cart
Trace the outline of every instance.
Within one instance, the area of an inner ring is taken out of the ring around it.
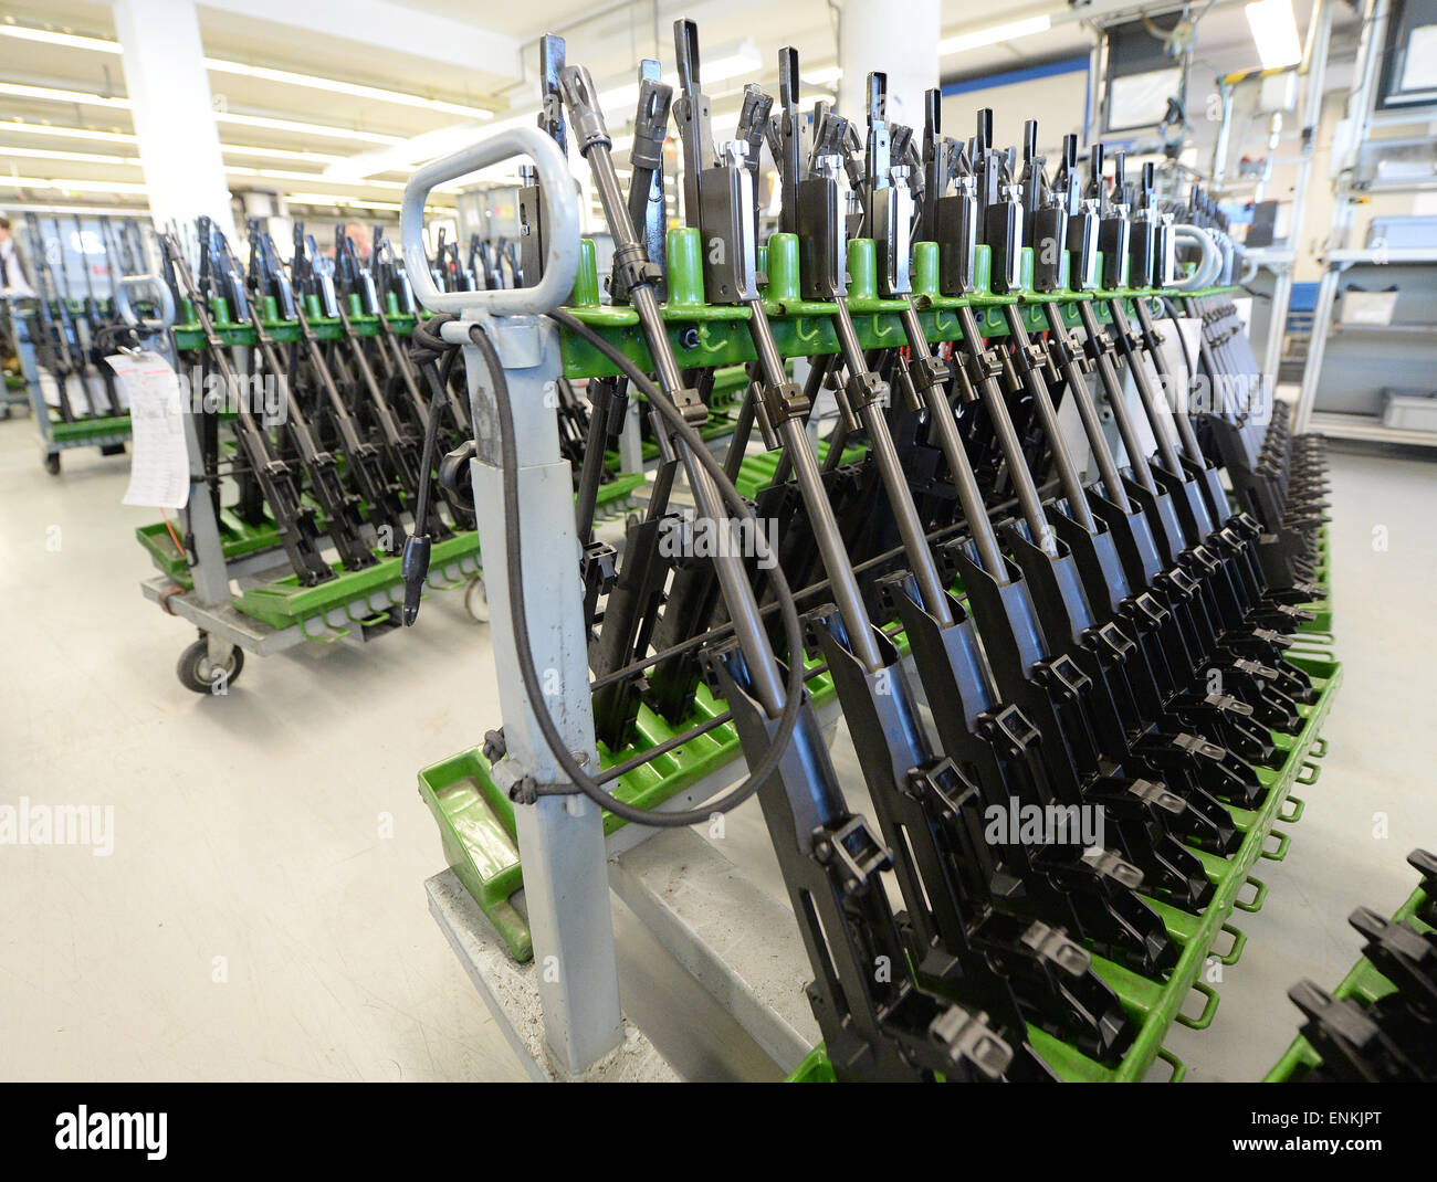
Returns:
[[[115,29],[155,225],[184,225],[207,214],[233,240],[194,1],[115,0]]]

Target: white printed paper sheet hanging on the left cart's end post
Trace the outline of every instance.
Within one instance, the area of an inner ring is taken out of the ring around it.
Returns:
[[[190,452],[178,376],[158,353],[115,353],[105,360],[129,401],[132,445],[124,503],[184,508],[190,500]]]

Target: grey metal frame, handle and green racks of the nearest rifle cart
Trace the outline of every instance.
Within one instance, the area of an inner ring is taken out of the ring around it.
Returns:
[[[428,190],[519,154],[537,164],[547,203],[549,257],[543,283],[535,289],[507,292],[437,292],[433,283],[425,281],[428,273],[421,266],[422,207]],[[444,325],[443,336],[464,349],[479,439],[479,454],[471,465],[476,500],[496,506],[502,504],[503,475],[497,414],[483,359],[470,342],[473,325],[483,325],[506,368],[519,457],[516,475],[523,504],[519,531],[525,583],[533,589],[526,599],[533,661],[536,668],[556,674],[553,692],[546,694],[546,699],[568,745],[581,763],[598,767],[601,755],[588,692],[582,587],[575,577],[578,540],[568,511],[570,474],[558,447],[556,412],[545,405],[542,396],[546,383],[558,381],[560,373],[576,378],[611,372],[592,349],[582,342],[565,340],[542,315],[570,296],[575,276],[581,273],[582,251],[572,200],[568,165],[553,142],[537,129],[520,128],[421,169],[405,190],[402,233],[420,302],[434,312],[453,312],[460,317]],[[865,340],[872,339],[878,346],[898,343],[897,306],[890,307],[894,302],[862,294],[862,247],[858,243],[852,246],[856,254],[851,260],[858,266],[851,261],[854,283],[849,294],[861,320],[859,330],[868,335]],[[923,273],[935,260],[923,257],[923,250],[918,254],[914,286],[923,290]],[[777,284],[782,289],[785,267],[780,260],[770,259],[770,287]],[[576,290],[591,287],[592,283],[581,281]],[[1114,294],[1144,297],[1144,293],[1128,290]],[[1003,323],[1002,304],[1020,304],[1026,319],[1042,315],[1042,299],[984,296],[974,297],[971,303],[977,304],[981,323],[997,326]],[[783,348],[789,352],[822,352],[829,343],[819,339],[816,329],[823,320],[823,306],[805,304],[796,294],[792,302],[780,294],[779,302],[786,303],[790,313],[787,319],[775,320],[780,346],[787,340]],[[950,323],[953,333],[958,330],[951,315],[953,303],[935,297],[920,304],[925,309],[923,315],[930,332],[943,336]],[[608,332],[609,339],[631,352],[641,368],[651,365],[647,348],[632,326],[632,309],[601,306],[596,299],[592,303],[575,299],[573,304],[570,310],[575,316]],[[990,313],[996,313],[992,320]],[[703,304],[701,296],[693,306],[684,306],[681,299],[675,303],[671,292],[664,315],[671,322],[681,365],[685,358],[694,365],[734,363],[743,360],[744,350],[752,348],[746,343],[741,310],[710,307]],[[783,901],[760,889],[693,832],[609,824],[612,819],[608,814],[576,794],[540,796],[535,804],[510,804],[509,788],[519,777],[529,776],[542,784],[563,781],[517,672],[507,570],[503,564],[504,540],[513,527],[514,523],[502,513],[484,514],[480,521],[483,550],[489,556],[487,577],[494,609],[490,639],[507,753],[503,760],[491,763],[471,750],[420,774],[421,796],[437,816],[443,814],[441,833],[451,866],[460,867],[463,857],[476,859],[468,867],[471,873],[450,869],[425,883],[435,922],[535,1079],[673,1076],[652,1043],[628,1023],[619,1007],[618,949],[609,890],[718,1000],[759,1047],[785,1070],[802,1077],[818,1038],[803,994],[803,984],[812,972],[802,942],[793,938],[795,919]],[[901,645],[901,638],[897,639]],[[1341,676],[1331,652],[1312,652],[1311,659],[1328,692],[1306,711],[1308,725],[1302,734],[1285,744],[1289,758],[1280,771],[1272,774],[1272,791],[1263,809],[1239,819],[1239,826],[1249,834],[1242,852],[1230,860],[1213,859],[1213,865],[1207,866],[1220,885],[1220,905],[1203,916],[1170,916],[1171,926],[1187,948],[1184,971],[1167,985],[1145,979],[1128,982],[1124,997],[1142,1013],[1145,1034],[1135,1056],[1114,1077],[1141,1077],[1154,1057],[1164,1054],[1163,1034],[1173,1021],[1183,1020],[1183,1004],[1194,988],[1213,941],[1220,931],[1233,931],[1227,923],[1232,909],[1255,911],[1262,905],[1265,888],[1252,878],[1250,869],[1259,857],[1280,859],[1286,849],[1286,839],[1279,842],[1277,849],[1269,846],[1270,827],[1276,820],[1293,822],[1300,813],[1299,806],[1286,803],[1289,791],[1295,784],[1315,778],[1316,731]],[[838,708],[831,687],[815,679],[812,689],[825,731],[832,734]],[[698,747],[697,743],[685,745]],[[726,753],[711,754],[711,763],[697,761],[694,776],[675,777],[675,794],[665,799],[660,788],[650,786],[652,791],[638,801],[639,807],[694,807],[741,777],[744,764],[736,741],[729,743]],[[484,824],[481,814],[486,809],[506,809],[509,826]],[[448,832],[444,830],[445,822]],[[464,847],[466,842],[473,844]],[[456,847],[464,847],[458,856]],[[483,865],[479,865],[480,860]],[[491,889],[486,889],[486,883]],[[1244,883],[1255,892],[1253,898],[1240,898]],[[1229,962],[1236,959],[1239,951],[1234,945],[1224,954]],[[1124,972],[1117,967],[1114,971]],[[1201,1027],[1211,1021],[1216,997],[1201,984],[1196,988],[1204,992],[1204,1008],[1187,1023]],[[1069,1077],[1095,1077],[1085,1063],[1069,1063],[1066,1071]]]

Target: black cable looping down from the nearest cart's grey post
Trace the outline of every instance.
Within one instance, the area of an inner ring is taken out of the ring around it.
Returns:
[[[749,508],[749,504],[739,494],[739,490],[733,487],[733,483],[724,477],[723,467],[717,460],[714,460],[708,448],[704,447],[698,432],[684,419],[678,408],[674,406],[674,404],[664,394],[661,394],[660,389],[644,373],[641,373],[622,352],[615,349],[608,340],[593,332],[583,322],[570,316],[568,312],[555,310],[547,315],[555,323],[560,325],[565,330],[583,338],[589,345],[614,362],[634,383],[634,388],[648,399],[650,406],[660,414],[674,434],[690,448],[694,455],[694,461],[708,471],[710,477],[718,487],[720,495],[729,503],[730,508],[740,517],[753,518],[753,510]],[[714,813],[727,813],[729,810],[736,809],[753,796],[753,793],[756,793],[759,787],[762,787],[763,783],[767,781],[767,778],[777,770],[779,761],[783,758],[789,741],[793,737],[793,731],[798,727],[800,709],[803,707],[803,632],[799,623],[798,608],[793,602],[793,595],[789,590],[787,580],[783,577],[783,572],[777,567],[777,564],[775,564],[770,572],[770,577],[775,593],[782,605],[783,632],[789,648],[787,684],[785,687],[783,711],[779,715],[773,740],[769,744],[769,750],[764,751],[763,758],[759,761],[759,765],[752,768],[749,778],[744,783],[733,788],[723,799],[713,801],[703,809],[654,811],[648,809],[635,809],[634,806],[625,804],[624,801],[612,797],[604,790],[604,786],[591,777],[575,760],[563,740],[563,735],[559,732],[559,728],[553,721],[553,715],[545,704],[543,688],[539,682],[539,672],[535,669],[533,651],[530,648],[529,618],[525,610],[523,543],[520,540],[522,530],[519,526],[519,454],[514,444],[514,419],[513,408],[509,402],[509,383],[504,378],[504,366],[499,359],[499,352],[494,349],[493,342],[484,333],[483,327],[473,325],[470,327],[470,339],[474,342],[480,355],[484,358],[484,365],[489,368],[494,405],[499,414],[504,520],[507,524],[504,531],[504,560],[509,567],[509,610],[510,622],[514,629],[514,649],[519,661],[519,675],[523,679],[525,694],[529,697],[529,707],[533,711],[535,721],[537,721],[539,730],[543,734],[545,741],[549,744],[555,763],[559,764],[569,781],[581,793],[589,797],[589,800],[601,809],[608,809],[615,816],[635,824],[648,824],[658,829],[685,829],[691,824],[703,824],[708,822]],[[760,537],[757,530],[754,531],[754,537]],[[762,539],[759,544],[763,544]],[[588,689],[588,687],[585,687],[585,689]],[[543,787],[539,787],[535,791],[536,794],[547,794]]]

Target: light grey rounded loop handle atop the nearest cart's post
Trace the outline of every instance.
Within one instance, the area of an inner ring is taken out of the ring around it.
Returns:
[[[424,203],[430,190],[467,172],[529,157],[539,168],[545,224],[543,279],[533,287],[494,292],[440,292],[424,256]],[[579,270],[579,203],[573,177],[559,146],[539,128],[509,128],[479,144],[430,161],[404,187],[399,214],[404,260],[414,294],[430,312],[519,316],[549,312],[562,304],[573,289]]]

